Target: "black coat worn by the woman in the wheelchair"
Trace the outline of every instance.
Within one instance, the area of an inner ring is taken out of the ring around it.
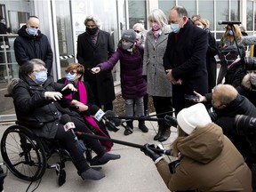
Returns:
[[[69,116],[77,116],[77,118],[84,121],[76,112],[68,108],[62,108],[61,100],[48,100],[44,97],[44,92],[60,92],[65,84],[54,83],[50,76],[43,86],[38,86],[28,76],[20,76],[20,79],[22,81],[14,87],[12,92],[16,116],[18,120],[44,123],[43,127],[32,130],[36,136],[47,139],[55,137],[60,124],[59,112]],[[70,92],[62,93],[67,95]]]

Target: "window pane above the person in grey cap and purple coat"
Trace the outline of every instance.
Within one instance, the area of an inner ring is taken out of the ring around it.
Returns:
[[[147,28],[146,0],[128,0],[129,28],[135,23],[142,23]]]

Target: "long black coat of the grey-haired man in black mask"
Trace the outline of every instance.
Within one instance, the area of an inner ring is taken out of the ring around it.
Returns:
[[[106,31],[100,30],[96,44],[92,44],[91,37],[86,32],[77,38],[76,59],[84,65],[84,81],[90,84],[96,103],[99,101],[100,105],[107,104],[116,98],[111,70],[92,74],[86,69],[94,68],[108,60],[113,52],[115,52],[114,43]]]

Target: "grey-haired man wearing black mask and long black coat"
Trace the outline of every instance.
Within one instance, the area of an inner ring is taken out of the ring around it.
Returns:
[[[95,104],[99,108],[104,106],[105,111],[112,110],[116,95],[111,70],[92,74],[90,69],[108,60],[115,52],[114,42],[108,32],[100,30],[101,22],[97,16],[87,16],[84,25],[85,32],[77,38],[76,59],[86,69],[84,81],[92,88]]]

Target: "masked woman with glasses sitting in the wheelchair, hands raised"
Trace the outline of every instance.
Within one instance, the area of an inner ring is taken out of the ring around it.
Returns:
[[[76,111],[61,106],[61,98],[71,92],[76,92],[73,84],[54,83],[51,76],[47,76],[47,69],[43,60],[28,60],[20,66],[20,83],[12,90],[13,102],[18,120],[43,123],[42,127],[32,129],[38,137],[56,139],[68,150],[76,166],[78,174],[83,180],[100,180],[105,174],[92,169],[87,164],[83,152],[77,148],[72,132],[64,130],[61,116],[68,114],[76,125],[75,131],[92,133],[84,124],[84,118]],[[92,164],[106,164],[109,160],[120,158],[119,155],[105,152],[99,140],[81,136],[88,148],[97,154]]]

